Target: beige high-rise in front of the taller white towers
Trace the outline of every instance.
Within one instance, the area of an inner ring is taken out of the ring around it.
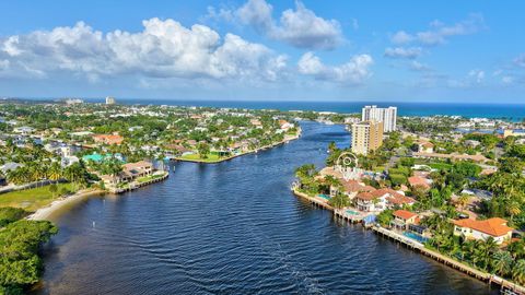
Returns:
[[[383,144],[383,122],[362,121],[352,125],[352,152],[366,155]]]

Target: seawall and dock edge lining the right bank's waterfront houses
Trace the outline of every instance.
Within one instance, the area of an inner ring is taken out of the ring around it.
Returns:
[[[323,208],[323,209],[326,209],[326,210],[330,210],[334,212],[334,215],[337,216],[337,217],[341,217],[346,221],[349,221],[349,222],[352,222],[352,223],[361,223],[363,221],[363,219],[366,216],[366,215],[353,215],[353,214],[349,214],[347,213],[347,210],[348,209],[335,209],[332,208],[331,205],[328,204],[328,201],[320,198],[320,197],[311,197],[304,192],[301,192],[296,189],[296,187],[292,187],[292,192],[304,199],[304,200],[307,200],[308,202],[311,202],[312,204],[316,205],[316,206],[319,206],[319,208]],[[524,286],[521,286],[521,285],[517,285],[511,281],[508,281],[503,278],[500,278],[498,275],[494,275],[494,274],[491,274],[491,273],[488,273],[488,272],[483,272],[483,271],[480,271],[480,270],[477,270],[470,266],[467,266],[460,261],[457,261],[457,260],[454,260],[452,259],[451,257],[447,257],[447,256],[444,256],[442,253],[439,253],[434,250],[431,250],[431,249],[428,249],[424,247],[423,244],[412,239],[412,238],[409,238],[402,234],[398,234],[394,231],[389,231],[387,228],[384,228],[384,227],[381,227],[381,226],[377,226],[377,225],[373,225],[370,227],[372,231],[374,231],[374,233],[381,235],[381,236],[384,236],[384,237],[387,237],[389,239],[393,239],[401,245],[405,245],[406,247],[415,250],[415,251],[418,251],[427,257],[430,257],[432,259],[434,259],[435,261],[438,262],[441,262],[445,266],[448,266],[455,270],[458,270],[458,271],[462,271],[470,276],[474,276],[480,281],[483,281],[486,283],[488,283],[489,285],[492,285],[492,284],[495,284],[495,285],[499,285],[501,287],[501,292],[502,294],[523,294],[525,295],[525,287]]]

